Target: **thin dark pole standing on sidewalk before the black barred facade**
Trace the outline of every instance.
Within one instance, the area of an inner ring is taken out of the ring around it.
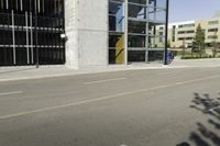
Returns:
[[[35,0],[35,37],[36,68],[38,68],[37,0]]]

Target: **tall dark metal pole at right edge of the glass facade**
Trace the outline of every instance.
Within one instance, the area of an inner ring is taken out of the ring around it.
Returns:
[[[165,24],[165,50],[164,50],[164,65],[167,65],[167,52],[168,52],[168,9],[169,0],[166,0],[166,24]]]

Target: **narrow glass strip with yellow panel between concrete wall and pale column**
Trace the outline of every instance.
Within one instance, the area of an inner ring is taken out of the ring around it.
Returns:
[[[109,1],[109,64],[124,61],[124,0]]]

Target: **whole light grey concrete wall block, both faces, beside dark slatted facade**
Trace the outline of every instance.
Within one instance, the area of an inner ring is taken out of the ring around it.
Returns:
[[[108,65],[108,0],[65,0],[66,66]]]

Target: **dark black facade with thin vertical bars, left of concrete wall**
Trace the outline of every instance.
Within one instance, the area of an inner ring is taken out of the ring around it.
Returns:
[[[64,64],[62,33],[64,0],[0,0],[0,66]]]

